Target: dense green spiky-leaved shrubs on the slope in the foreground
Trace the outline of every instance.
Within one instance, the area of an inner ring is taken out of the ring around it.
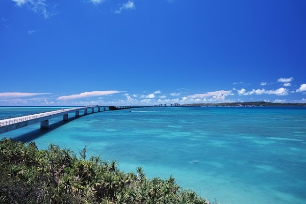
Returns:
[[[70,149],[50,144],[39,150],[34,142],[0,141],[0,203],[206,203],[183,190],[170,176],[147,179],[117,169],[115,161],[78,158]]]

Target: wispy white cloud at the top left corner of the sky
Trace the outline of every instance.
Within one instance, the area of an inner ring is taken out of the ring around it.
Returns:
[[[40,15],[43,15],[44,18],[49,18],[50,16],[55,15],[53,9],[49,8],[49,5],[46,4],[46,0],[11,0],[16,3],[16,6],[23,7],[28,6],[30,10]]]

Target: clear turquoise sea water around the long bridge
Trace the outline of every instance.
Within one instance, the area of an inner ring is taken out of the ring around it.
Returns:
[[[61,107],[0,107],[0,117]],[[80,113],[82,114],[82,113]],[[0,135],[45,149],[116,160],[123,171],[170,175],[183,188],[226,203],[306,203],[305,107],[160,107],[49,120]]]

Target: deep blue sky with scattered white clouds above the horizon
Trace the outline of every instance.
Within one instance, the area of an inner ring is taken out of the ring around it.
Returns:
[[[306,103],[304,0],[0,0],[0,106]]]

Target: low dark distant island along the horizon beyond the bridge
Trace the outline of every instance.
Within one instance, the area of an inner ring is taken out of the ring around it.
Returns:
[[[184,104],[181,106],[306,106],[306,103],[271,103],[265,101],[252,101],[252,102],[235,102],[235,103]]]

